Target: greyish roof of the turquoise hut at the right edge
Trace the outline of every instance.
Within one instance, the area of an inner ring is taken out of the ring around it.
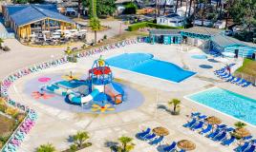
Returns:
[[[211,38],[211,41],[214,42],[215,44],[218,44],[220,47],[229,47],[229,46],[244,46],[244,47],[255,47],[256,45],[248,45],[245,42],[242,42],[238,39],[225,36],[223,34],[218,34],[215,35],[214,37]]]

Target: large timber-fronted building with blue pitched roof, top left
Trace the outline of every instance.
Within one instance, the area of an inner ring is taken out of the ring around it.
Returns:
[[[76,28],[75,22],[60,14],[55,5],[3,6],[5,25],[11,27],[17,38],[29,38],[43,30]]]

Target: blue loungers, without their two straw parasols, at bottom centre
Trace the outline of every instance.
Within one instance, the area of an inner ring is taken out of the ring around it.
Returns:
[[[151,133],[151,128],[147,128],[142,132],[137,134],[140,140],[147,141],[149,144],[158,145],[160,142],[163,142],[163,136],[158,137],[155,133]],[[171,144],[163,147],[164,152],[173,152],[177,150],[177,142],[172,142]],[[185,150],[181,149],[180,152],[185,152]]]

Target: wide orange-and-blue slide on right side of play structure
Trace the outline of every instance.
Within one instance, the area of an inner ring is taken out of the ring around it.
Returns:
[[[117,96],[122,95],[122,93],[118,92],[112,83],[105,86],[105,93],[108,94],[116,104],[122,103],[122,97]]]

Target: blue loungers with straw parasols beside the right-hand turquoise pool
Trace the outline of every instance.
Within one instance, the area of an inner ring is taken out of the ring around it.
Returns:
[[[201,119],[201,116],[203,116],[203,119]],[[254,152],[256,140],[252,140],[253,137],[248,130],[228,127],[217,117],[204,118],[204,116],[200,112],[191,113],[191,120],[182,126],[197,131],[204,137],[225,146],[237,143],[238,146],[234,149],[237,152]],[[242,145],[242,143],[244,144]]]

